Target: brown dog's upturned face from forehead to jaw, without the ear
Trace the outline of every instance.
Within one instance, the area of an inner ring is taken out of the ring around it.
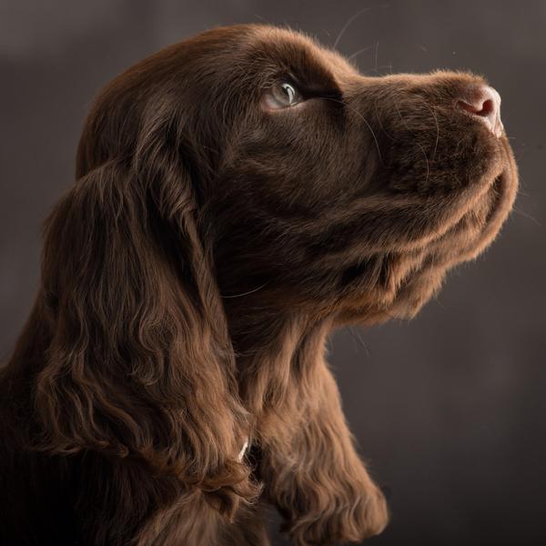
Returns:
[[[207,32],[137,67],[126,86],[177,97],[177,146],[227,307],[411,316],[510,211],[516,167],[479,76],[362,76],[262,25]]]

